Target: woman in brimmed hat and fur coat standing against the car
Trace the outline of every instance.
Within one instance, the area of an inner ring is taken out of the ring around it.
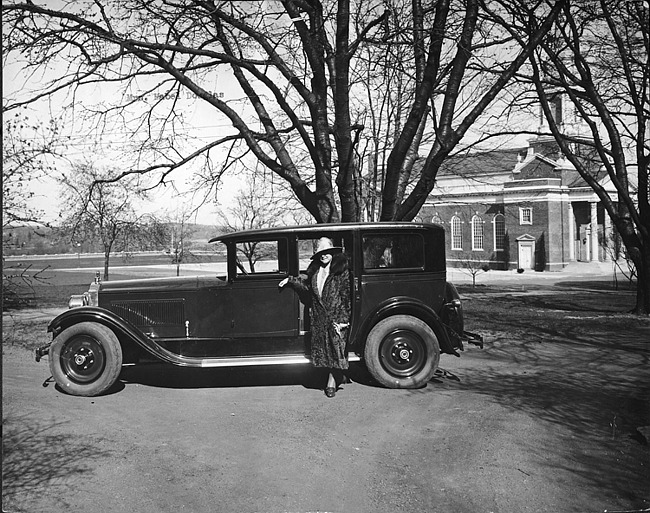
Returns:
[[[315,367],[329,369],[325,395],[334,397],[337,382],[346,380],[346,343],[350,327],[350,272],[341,247],[321,237],[307,268],[307,278],[290,276],[279,286],[291,286],[311,307],[311,358]]]

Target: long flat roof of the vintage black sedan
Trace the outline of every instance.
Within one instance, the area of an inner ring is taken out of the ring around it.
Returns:
[[[320,233],[341,233],[358,230],[403,230],[403,229],[421,229],[444,231],[444,228],[437,224],[422,223],[413,221],[382,221],[376,223],[323,223],[323,224],[304,224],[295,226],[277,226],[275,228],[259,228],[255,230],[241,230],[238,232],[224,233],[213,237],[210,242],[229,242],[243,239],[263,239],[266,237],[291,234],[291,235],[309,235]]]

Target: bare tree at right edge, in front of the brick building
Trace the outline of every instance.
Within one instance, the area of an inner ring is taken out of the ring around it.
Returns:
[[[511,17],[496,18],[524,45],[541,20],[524,3],[508,8]],[[644,315],[650,314],[649,47],[647,2],[568,1],[519,77],[534,88],[562,155],[620,234],[638,276],[634,310]],[[585,133],[561,116],[570,110]],[[605,178],[617,197],[608,194]]]

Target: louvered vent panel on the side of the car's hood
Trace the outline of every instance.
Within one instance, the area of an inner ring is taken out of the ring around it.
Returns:
[[[111,310],[136,326],[183,326],[185,300],[114,301]]]

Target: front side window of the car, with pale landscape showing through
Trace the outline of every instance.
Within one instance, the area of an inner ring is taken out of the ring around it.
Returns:
[[[242,241],[235,248],[238,277],[287,273],[289,264],[286,239]]]

